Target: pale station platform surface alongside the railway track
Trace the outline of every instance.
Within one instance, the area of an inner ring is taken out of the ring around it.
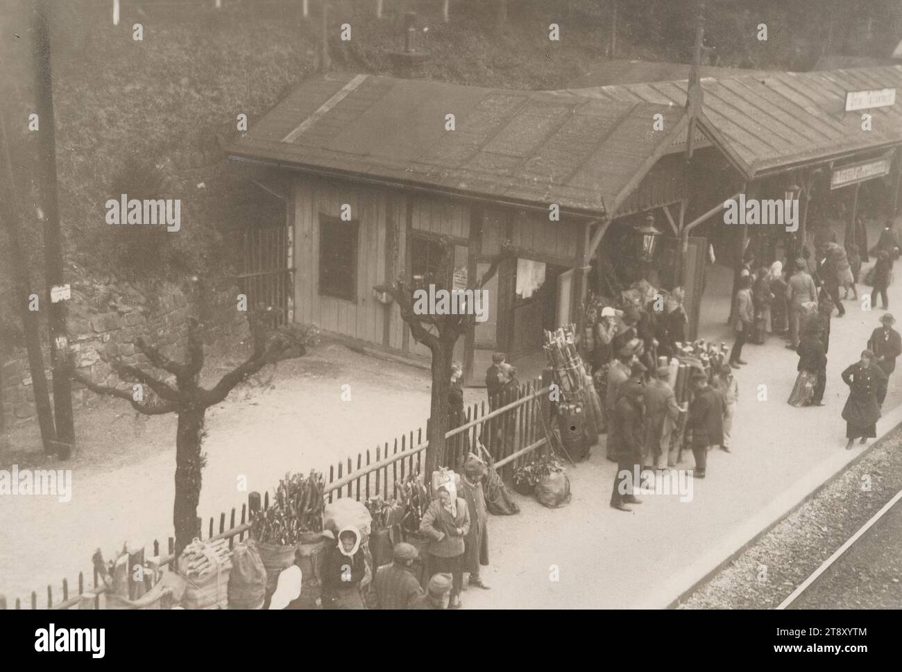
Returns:
[[[871,241],[878,231],[871,227]],[[713,268],[700,337],[732,343],[723,325],[730,279],[728,270]],[[902,308],[900,286],[897,281],[889,289],[891,307]],[[851,301],[845,308],[844,318],[833,318],[824,407],[787,404],[798,358],[782,338],[748,345],[743,358],[749,364],[736,372],[740,401],[732,453],[713,451],[707,478],[693,483],[691,501],[646,495],[631,513],[612,510],[616,467],[604,458],[603,446],[596,447],[588,462],[568,468],[569,506],[550,510],[514,495],[520,515],[490,519],[492,565],[484,576],[492,590],[468,590],[465,607],[664,608],[804,502],[861,454],[857,444],[844,448],[841,412],[848,388],[840,373],[858,360],[884,311],[864,311]],[[900,375],[889,382],[880,435],[902,422],[902,408],[893,411],[902,401]],[[766,391],[760,400],[759,391]],[[685,458],[681,466],[691,467],[691,454]]]

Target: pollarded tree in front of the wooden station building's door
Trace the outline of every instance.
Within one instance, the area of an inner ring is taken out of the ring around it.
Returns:
[[[442,258],[438,264],[436,278],[426,279],[434,281],[435,290],[448,290],[447,281],[453,277],[455,243],[448,237],[440,241]],[[458,301],[458,306],[464,309],[458,310],[458,314],[447,314],[445,311],[432,312],[428,301],[428,286],[420,283],[409,285],[407,281],[399,279],[389,287],[377,287],[391,295],[400,308],[400,317],[410,327],[410,334],[419,343],[426,345],[432,354],[432,390],[429,402],[429,423],[427,431],[428,449],[426,451],[425,474],[431,474],[440,466],[445,466],[445,433],[448,430],[448,392],[451,389],[451,363],[454,358],[454,346],[457,339],[463,336],[468,329],[474,327],[475,292],[483,290],[485,283],[492,280],[492,276],[498,271],[499,264],[511,256],[509,241],[502,245],[502,253],[498,254],[483,273],[482,277],[474,283],[468,282],[465,290],[455,290],[451,294],[450,301]],[[419,293],[423,292],[423,293]],[[497,297],[495,298],[497,299]],[[438,302],[436,302],[438,304]],[[447,304],[450,308],[450,302]]]

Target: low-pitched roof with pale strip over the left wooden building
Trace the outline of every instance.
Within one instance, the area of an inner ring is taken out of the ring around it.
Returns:
[[[681,106],[638,99],[330,74],[227,149],[239,160],[602,216],[685,135],[684,117]]]

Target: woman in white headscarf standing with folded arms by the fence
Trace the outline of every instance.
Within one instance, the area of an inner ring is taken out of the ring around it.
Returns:
[[[420,519],[419,531],[429,538],[429,575],[446,573],[454,577],[448,606],[460,608],[460,593],[464,587],[464,539],[470,531],[470,512],[465,500],[457,497],[454,481],[439,486],[438,499],[429,504]]]

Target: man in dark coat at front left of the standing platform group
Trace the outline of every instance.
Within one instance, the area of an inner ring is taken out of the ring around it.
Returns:
[[[632,511],[627,504],[640,504],[642,501],[632,493],[634,476],[641,460],[642,442],[644,440],[642,380],[646,367],[641,362],[633,362],[630,377],[621,383],[619,398],[614,406],[613,446],[617,457],[617,474],[611,491],[611,506],[618,511]],[[610,435],[609,435],[610,439]]]

